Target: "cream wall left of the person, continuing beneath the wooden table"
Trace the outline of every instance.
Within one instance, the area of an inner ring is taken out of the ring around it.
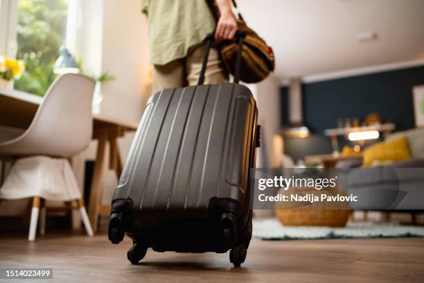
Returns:
[[[103,2],[102,70],[115,80],[102,85],[100,114],[125,121],[139,122],[150,95],[148,80],[147,21],[140,12],[139,0]],[[119,140],[125,161],[134,133]],[[103,203],[110,203],[116,187],[116,175],[105,175]]]

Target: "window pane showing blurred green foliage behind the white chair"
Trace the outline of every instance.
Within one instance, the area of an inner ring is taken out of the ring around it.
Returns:
[[[64,44],[67,0],[19,0],[17,8],[17,55],[26,71],[15,89],[43,96],[55,79],[53,66]]]

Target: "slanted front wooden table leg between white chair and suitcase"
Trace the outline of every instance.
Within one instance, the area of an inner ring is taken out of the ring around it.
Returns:
[[[106,135],[98,139],[96,164],[94,164],[93,180],[91,182],[90,202],[89,202],[89,220],[93,232],[97,232],[98,215],[100,202],[102,198],[103,176],[105,173],[105,155],[106,155]]]

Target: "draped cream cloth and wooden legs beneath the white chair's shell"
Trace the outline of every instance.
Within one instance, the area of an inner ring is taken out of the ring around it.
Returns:
[[[19,158],[0,187],[0,199],[33,199],[31,209],[29,241],[35,240],[37,224],[44,234],[46,223],[46,200],[77,205],[87,234],[93,236],[81,191],[66,158],[51,158],[45,155]]]

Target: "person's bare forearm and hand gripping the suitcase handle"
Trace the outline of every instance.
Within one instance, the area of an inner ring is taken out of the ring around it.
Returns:
[[[220,18],[216,24],[215,40],[231,40],[237,31],[236,17],[231,9],[231,0],[215,0],[220,10]]]

